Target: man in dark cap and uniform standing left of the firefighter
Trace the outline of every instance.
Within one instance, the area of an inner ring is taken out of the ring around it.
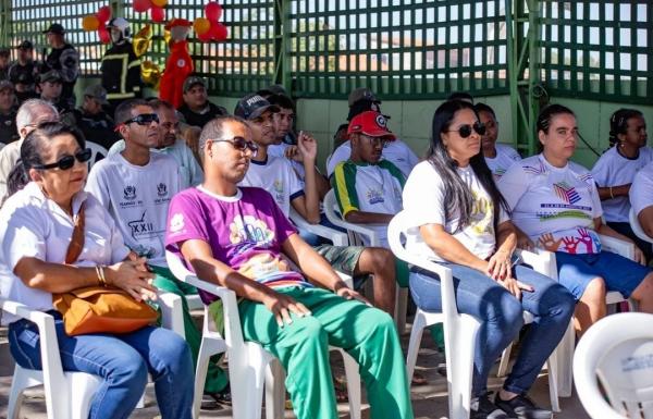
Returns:
[[[62,78],[61,100],[67,102],[67,108],[75,107],[74,88],[79,75],[79,53],[64,39],[65,30],[59,23],[51,24],[45,32],[52,50],[44,59],[42,73],[58,70]],[[44,51],[45,54],[45,51]]]

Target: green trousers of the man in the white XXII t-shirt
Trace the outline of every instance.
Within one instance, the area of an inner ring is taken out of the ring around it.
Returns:
[[[199,355],[199,345],[201,344],[201,331],[197,329],[190,311],[188,310],[188,301],[186,295],[197,294],[197,289],[180,280],[177,280],[168,268],[150,266],[155,278],[155,286],[161,291],[172,293],[182,297],[184,307],[184,332],[186,334],[186,343],[193,355],[193,366],[197,367],[197,356]],[[219,357],[211,358],[209,369],[207,371],[207,381],[205,382],[205,392],[218,393],[229,384],[229,375],[218,367]]]

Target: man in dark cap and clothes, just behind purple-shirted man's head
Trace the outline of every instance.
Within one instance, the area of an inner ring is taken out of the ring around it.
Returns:
[[[202,128],[213,118],[229,114],[226,109],[209,101],[204,78],[189,75],[184,82],[183,91],[184,104],[178,108],[178,111],[186,124]]]

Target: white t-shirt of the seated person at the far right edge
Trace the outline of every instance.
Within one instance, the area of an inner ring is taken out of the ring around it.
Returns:
[[[634,175],[644,165],[653,161],[653,150],[649,147],[640,148],[637,159],[629,159],[619,155],[617,146],[611,147],[601,156],[592,168],[592,176],[599,187],[620,186],[632,183]],[[628,222],[630,202],[628,197],[618,196],[605,199],[603,202],[605,221]]]

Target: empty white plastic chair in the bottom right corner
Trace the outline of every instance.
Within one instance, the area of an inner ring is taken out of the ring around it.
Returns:
[[[618,313],[593,324],[574,356],[576,390],[589,416],[652,419],[652,366],[653,315]]]

